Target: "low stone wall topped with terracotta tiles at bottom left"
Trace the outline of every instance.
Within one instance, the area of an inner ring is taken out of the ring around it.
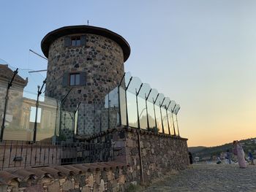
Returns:
[[[0,191],[126,191],[132,183],[128,174],[127,165],[116,162],[1,171]]]

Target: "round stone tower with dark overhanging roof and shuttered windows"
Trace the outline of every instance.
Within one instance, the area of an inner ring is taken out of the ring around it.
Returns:
[[[42,39],[41,47],[48,58],[45,95],[61,101],[72,88],[63,104],[69,111],[79,102],[104,102],[108,91],[121,81],[130,54],[123,37],[95,26],[58,28]],[[86,134],[84,129],[78,128],[78,134]]]

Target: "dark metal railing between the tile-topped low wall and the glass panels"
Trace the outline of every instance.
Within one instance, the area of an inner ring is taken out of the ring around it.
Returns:
[[[111,143],[27,142],[5,140],[0,144],[0,169],[113,161]]]

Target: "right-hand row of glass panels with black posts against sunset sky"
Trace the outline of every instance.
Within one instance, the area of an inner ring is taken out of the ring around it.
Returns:
[[[129,72],[124,74],[118,90],[121,125],[179,136],[180,106],[175,101]]]

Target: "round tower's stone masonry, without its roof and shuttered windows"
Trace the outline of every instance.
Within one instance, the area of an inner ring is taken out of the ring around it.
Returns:
[[[77,36],[82,34],[74,34]],[[111,39],[86,34],[86,46],[64,47],[64,38],[50,45],[46,95],[63,99],[70,86],[63,86],[65,73],[85,72],[86,85],[72,86],[64,102],[65,110],[73,111],[78,102],[92,104],[104,101],[105,95],[121,81],[124,74],[124,55]]]

